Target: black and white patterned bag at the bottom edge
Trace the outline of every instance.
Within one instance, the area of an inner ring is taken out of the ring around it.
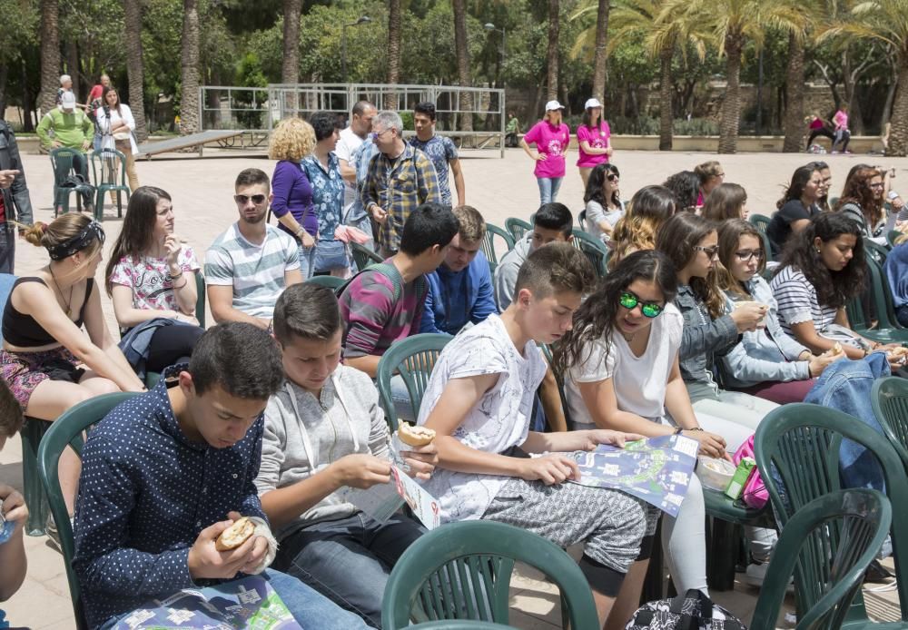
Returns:
[[[637,608],[625,630],[747,630],[740,619],[695,588]]]

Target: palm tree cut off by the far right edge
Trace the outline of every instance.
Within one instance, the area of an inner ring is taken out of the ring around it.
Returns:
[[[844,21],[824,29],[819,39],[839,35],[881,42],[895,52],[898,76],[886,155],[905,155],[908,153],[908,5],[905,0],[859,2]]]

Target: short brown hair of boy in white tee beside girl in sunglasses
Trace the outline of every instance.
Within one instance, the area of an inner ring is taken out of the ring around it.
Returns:
[[[533,251],[520,265],[514,295],[521,289],[538,298],[563,292],[585,295],[595,284],[596,271],[587,255],[570,243],[553,242]]]

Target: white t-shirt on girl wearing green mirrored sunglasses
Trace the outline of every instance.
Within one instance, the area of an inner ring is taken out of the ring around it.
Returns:
[[[618,409],[661,422],[665,415],[666,384],[681,348],[683,327],[681,311],[674,304],[666,304],[666,309],[650,326],[649,340],[642,356],[635,356],[617,331],[609,340],[595,340],[588,344],[581,354],[585,360],[569,370],[565,383],[568,411],[571,421],[578,425],[576,428],[597,428],[580,396],[577,383],[596,383],[609,378],[615,388]],[[605,358],[609,346],[610,351]]]

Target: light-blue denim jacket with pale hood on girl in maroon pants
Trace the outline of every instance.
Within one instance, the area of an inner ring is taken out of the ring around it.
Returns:
[[[743,389],[767,380],[787,382],[810,378],[809,363],[798,360],[806,349],[785,334],[778,319],[778,304],[769,284],[759,275],[747,281],[745,290],[762,304],[769,305],[766,328],[745,332],[740,343],[719,359],[723,382],[727,387]],[[731,312],[735,302],[725,300],[725,312]]]

